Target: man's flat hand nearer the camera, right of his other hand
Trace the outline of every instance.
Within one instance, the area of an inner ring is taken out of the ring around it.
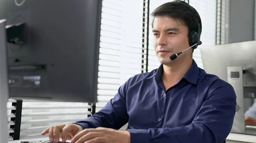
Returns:
[[[76,134],[72,143],[130,143],[130,132],[109,128],[84,129]]]

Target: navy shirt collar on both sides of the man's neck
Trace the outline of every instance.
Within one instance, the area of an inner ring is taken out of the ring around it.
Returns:
[[[193,59],[192,66],[185,73],[183,78],[192,84],[197,84],[198,72],[199,72],[198,65],[196,64],[195,60]],[[162,73],[163,73],[163,64],[161,64],[158,67],[157,71],[152,76],[148,77],[147,79],[150,79],[154,76],[156,77],[156,79],[162,79]]]

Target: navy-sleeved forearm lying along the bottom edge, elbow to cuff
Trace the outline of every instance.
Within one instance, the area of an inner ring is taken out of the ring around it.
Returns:
[[[188,126],[160,129],[128,129],[131,143],[222,143],[225,133],[213,133],[207,126],[194,123]],[[221,135],[223,134],[224,135]]]

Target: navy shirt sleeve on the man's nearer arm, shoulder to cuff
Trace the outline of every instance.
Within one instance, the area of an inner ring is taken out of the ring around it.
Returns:
[[[187,126],[128,131],[131,143],[223,143],[231,131],[235,112],[235,91],[225,84],[209,90],[207,99]]]

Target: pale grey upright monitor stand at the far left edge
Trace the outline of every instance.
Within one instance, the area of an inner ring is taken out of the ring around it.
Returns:
[[[6,20],[0,20],[0,143],[8,143],[7,102],[9,98]]]

